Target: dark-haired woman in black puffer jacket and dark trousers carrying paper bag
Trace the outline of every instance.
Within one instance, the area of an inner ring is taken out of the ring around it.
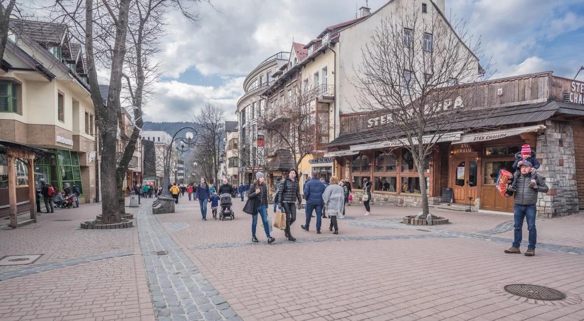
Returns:
[[[294,242],[296,241],[296,238],[294,238],[290,232],[290,226],[296,221],[296,207],[294,206],[294,203],[298,201],[298,210],[300,210],[302,204],[300,182],[298,182],[298,172],[296,169],[290,169],[284,182],[280,183],[277,193],[279,195],[280,208],[283,207],[284,212],[286,212],[286,229],[284,230],[284,236],[286,236],[289,241]]]

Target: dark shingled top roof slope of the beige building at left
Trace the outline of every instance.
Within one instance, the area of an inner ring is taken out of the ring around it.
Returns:
[[[61,44],[67,25],[63,23],[10,19],[11,29],[15,32],[25,33],[40,44]]]

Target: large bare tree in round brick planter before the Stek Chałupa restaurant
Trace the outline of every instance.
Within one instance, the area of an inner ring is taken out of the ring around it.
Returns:
[[[352,82],[359,93],[359,108],[353,109],[380,116],[372,125],[381,126],[379,135],[392,141],[388,151],[403,146],[419,169],[437,142],[451,135],[449,131],[465,130],[461,127],[463,101],[474,90],[454,85],[486,77],[477,57],[481,41],[472,39],[463,20],[453,26],[458,33],[437,14],[423,18],[413,12],[384,18],[362,49],[363,62],[354,68]],[[466,45],[471,43],[472,47]],[[423,170],[418,175],[427,215]]]

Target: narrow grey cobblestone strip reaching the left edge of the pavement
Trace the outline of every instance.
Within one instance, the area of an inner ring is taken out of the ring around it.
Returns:
[[[77,264],[88,263],[103,259],[111,259],[112,257],[133,255],[131,250],[119,251],[112,253],[103,253],[92,256],[78,257],[77,259],[68,259],[62,261],[34,264],[30,266],[23,266],[15,270],[0,273],[0,281],[8,280],[9,278],[23,277],[25,275],[36,274],[44,271],[56,270],[57,268],[75,266]]]

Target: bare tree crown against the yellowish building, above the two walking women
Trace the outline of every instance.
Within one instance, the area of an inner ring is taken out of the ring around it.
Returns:
[[[266,134],[267,149],[290,150],[298,168],[305,156],[319,148],[318,134],[328,133],[330,128],[328,120],[317,124],[317,88],[295,85],[291,90],[287,101],[266,92],[267,106],[260,108],[257,121]],[[328,118],[328,112],[325,114]]]

